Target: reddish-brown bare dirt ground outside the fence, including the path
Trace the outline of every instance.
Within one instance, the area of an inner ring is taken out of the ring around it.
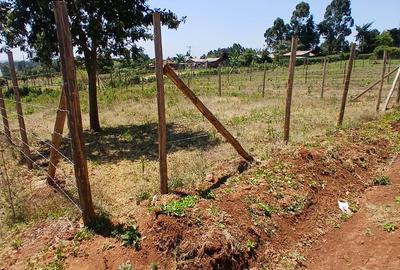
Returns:
[[[386,136],[389,129],[397,139]],[[313,146],[277,147],[249,168],[240,160],[220,164],[207,185],[191,190],[198,199],[182,216],[159,207],[185,190],[127,202],[132,210],[113,222],[138,225],[139,250],[107,230],[77,237],[79,221],[37,224],[10,238],[21,245],[0,254],[0,269],[398,269],[399,230],[384,230],[400,224],[398,131],[398,123],[375,122]],[[373,187],[382,174],[392,183]],[[338,199],[356,213],[343,217]]]

